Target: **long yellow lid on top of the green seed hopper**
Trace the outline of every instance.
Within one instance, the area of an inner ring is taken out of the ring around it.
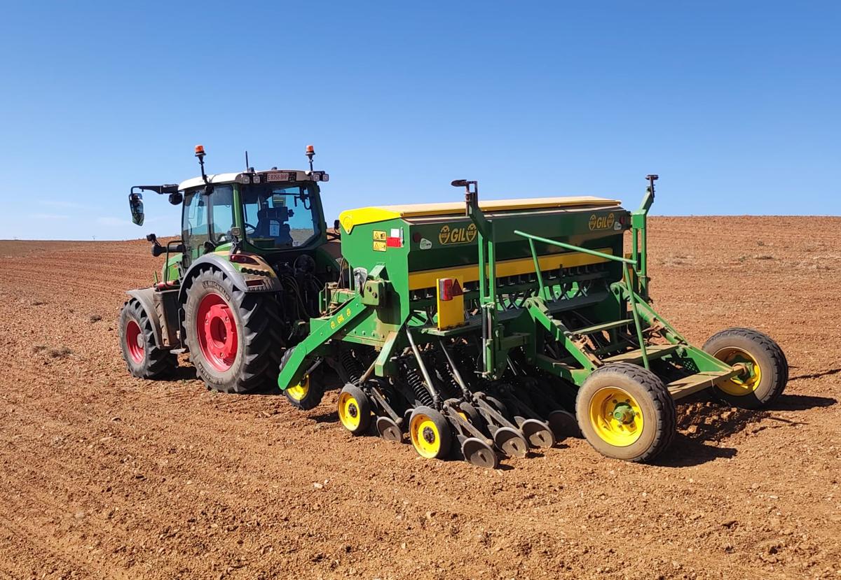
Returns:
[[[604,197],[530,197],[521,200],[482,200],[479,208],[483,212],[507,212],[524,209],[555,209],[571,206],[618,206],[619,201]],[[339,214],[339,222],[346,233],[363,223],[385,222],[395,217],[463,216],[464,203],[443,201],[441,203],[412,203],[397,206],[360,207]]]

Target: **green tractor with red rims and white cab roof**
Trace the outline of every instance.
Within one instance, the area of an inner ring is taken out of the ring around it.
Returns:
[[[182,227],[164,244],[146,237],[166,261],[154,285],[128,292],[119,316],[125,362],[135,377],[159,379],[187,352],[209,389],[277,388],[283,353],[306,336],[306,321],[323,309],[320,290],[340,274],[320,198],[330,176],[312,169],[311,145],[309,170],[207,175],[204,148],[195,154],[201,176],[131,188],[135,224],[143,224],[142,192],[153,191],[182,206]],[[298,406],[320,400],[294,393]]]

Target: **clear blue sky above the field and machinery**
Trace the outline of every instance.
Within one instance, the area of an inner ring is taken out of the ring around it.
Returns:
[[[130,185],[329,170],[342,209],[618,196],[841,213],[841,4],[3,3],[0,238],[140,238]]]

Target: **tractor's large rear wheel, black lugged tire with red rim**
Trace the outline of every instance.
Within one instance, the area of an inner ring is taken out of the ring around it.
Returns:
[[[188,289],[184,315],[190,359],[209,389],[247,393],[277,383],[280,318],[273,295],[238,290],[219,270],[206,269]]]

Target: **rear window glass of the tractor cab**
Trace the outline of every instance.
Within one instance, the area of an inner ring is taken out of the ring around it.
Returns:
[[[246,238],[258,248],[297,248],[319,235],[308,185],[248,185],[242,191]]]

